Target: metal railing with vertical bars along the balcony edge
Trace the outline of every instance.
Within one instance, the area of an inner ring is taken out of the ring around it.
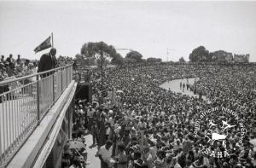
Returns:
[[[0,167],[7,165],[73,80],[73,65],[0,82]]]

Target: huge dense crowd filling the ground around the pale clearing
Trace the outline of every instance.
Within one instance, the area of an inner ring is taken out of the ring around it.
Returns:
[[[249,141],[256,137],[255,73],[253,64],[112,67],[104,78],[93,71],[94,102],[76,107],[84,122],[75,125],[83,125],[93,136],[92,146],[98,147],[102,167],[253,167],[256,148]],[[210,101],[159,87],[177,78],[199,78],[189,88]],[[195,135],[200,113],[214,107],[229,108],[239,119],[224,112],[211,113]],[[242,143],[237,125],[225,131],[225,144],[209,143],[208,124],[219,125],[221,119],[244,125]],[[228,154],[217,155],[224,150]]]

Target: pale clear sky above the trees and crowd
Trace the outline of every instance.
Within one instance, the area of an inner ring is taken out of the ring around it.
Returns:
[[[189,61],[203,45],[256,61],[256,2],[0,1],[0,55],[39,59],[49,49],[33,49],[51,32],[56,55],[104,41],[123,56],[133,49],[143,58]]]

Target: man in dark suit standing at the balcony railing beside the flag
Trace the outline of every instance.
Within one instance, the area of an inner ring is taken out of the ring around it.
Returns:
[[[49,50],[48,54],[42,55],[40,58],[40,61],[38,62],[38,72],[45,72],[45,71],[54,69],[55,65],[56,65],[55,55],[56,55],[55,48],[51,48]],[[50,74],[52,74],[52,72],[43,74],[42,78],[45,78],[45,77],[49,76]]]

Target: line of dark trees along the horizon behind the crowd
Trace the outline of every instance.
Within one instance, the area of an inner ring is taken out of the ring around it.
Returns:
[[[228,56],[230,59],[233,59],[233,55],[224,50],[218,50],[214,52],[209,52],[204,46],[199,46],[192,50],[189,54],[190,62],[212,62],[218,61],[218,58],[223,56],[224,61],[225,57]],[[76,60],[84,65],[123,65],[129,63],[153,63],[161,62],[160,58],[149,57],[143,59],[143,55],[136,50],[130,49],[130,51],[123,58],[113,45],[109,45],[104,42],[88,42],[84,43],[80,54],[75,56]],[[179,62],[186,62],[183,57],[179,58]]]

